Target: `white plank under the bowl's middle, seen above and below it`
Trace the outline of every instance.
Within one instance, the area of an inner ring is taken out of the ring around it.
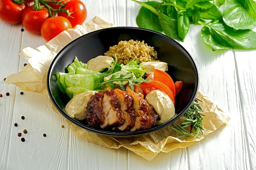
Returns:
[[[103,0],[83,1],[88,10],[87,19],[85,22],[99,15],[107,22],[121,26],[125,22],[120,18],[124,18],[125,11],[120,10],[125,7],[123,1],[108,1]],[[69,147],[69,167],[68,169],[127,169],[127,150],[108,149],[103,146],[84,141],[76,137],[70,132],[70,147]]]

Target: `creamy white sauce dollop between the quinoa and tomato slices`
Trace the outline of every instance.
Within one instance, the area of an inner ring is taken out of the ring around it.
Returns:
[[[155,69],[168,71],[168,64],[166,62],[142,62],[140,65],[143,66],[148,75],[153,73]]]

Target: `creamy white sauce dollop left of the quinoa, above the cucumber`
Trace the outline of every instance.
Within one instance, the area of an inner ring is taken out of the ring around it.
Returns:
[[[113,68],[114,59],[112,57],[99,55],[95,58],[92,58],[87,62],[88,69],[93,71],[103,71],[105,68],[111,70]]]

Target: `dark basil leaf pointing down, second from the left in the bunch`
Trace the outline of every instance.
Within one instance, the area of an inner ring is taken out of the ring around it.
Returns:
[[[162,12],[158,13],[158,19],[162,26],[162,29],[165,33],[165,35],[179,41],[183,41],[178,36],[178,26],[177,26],[177,20],[174,18],[170,18],[167,15],[165,15]]]

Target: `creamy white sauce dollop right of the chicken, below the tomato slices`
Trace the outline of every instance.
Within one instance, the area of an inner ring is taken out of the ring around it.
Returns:
[[[175,115],[174,104],[166,93],[153,90],[146,95],[146,100],[154,107],[160,117],[160,120],[156,121],[157,125],[163,124]]]

